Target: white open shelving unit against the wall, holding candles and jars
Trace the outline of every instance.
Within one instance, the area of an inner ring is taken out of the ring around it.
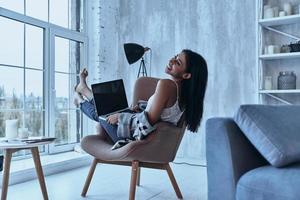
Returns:
[[[278,6],[282,8],[285,0],[257,0],[257,75],[258,75],[258,97],[259,103],[269,104],[270,102],[276,102],[281,104],[298,104],[300,103],[300,87],[293,90],[278,90],[277,89],[277,75],[280,69],[297,69],[300,72],[300,52],[291,53],[275,53],[275,54],[264,54],[265,45],[271,45],[270,41],[277,41],[277,38],[284,38],[290,42],[300,41],[300,14],[274,17],[274,18],[263,18],[264,5]],[[273,5],[272,5],[273,4]],[[300,5],[300,0],[293,0],[293,5]],[[294,27],[293,31],[287,31],[286,27]],[[296,31],[295,31],[296,27]],[[291,33],[292,32],[292,33]],[[271,35],[273,36],[271,38]],[[270,37],[270,38],[268,38]],[[275,37],[275,39],[274,39]],[[268,44],[269,42],[269,44]],[[272,44],[275,45],[275,44]],[[276,45],[283,45],[278,43]],[[295,61],[295,59],[297,61]],[[292,60],[292,62],[291,62]],[[297,63],[298,64],[294,64]],[[284,65],[282,67],[281,65]],[[272,71],[273,70],[273,71]],[[293,71],[291,70],[291,71]],[[271,72],[270,72],[271,71]],[[277,71],[277,74],[274,73]],[[265,76],[272,76],[272,89],[266,90],[264,88]],[[300,81],[300,73],[297,75],[297,81]],[[294,98],[297,95],[298,97]],[[291,98],[290,100],[289,98]],[[299,100],[297,100],[297,98]],[[268,100],[267,100],[268,99]],[[295,100],[296,99],[296,100]]]

